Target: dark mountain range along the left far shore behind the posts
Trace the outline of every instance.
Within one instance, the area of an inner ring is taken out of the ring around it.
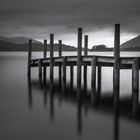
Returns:
[[[0,51],[28,51],[28,38],[25,37],[14,37],[14,38],[7,38],[7,37],[0,37]],[[59,50],[59,45],[54,44],[54,51]],[[32,44],[33,51],[43,51],[44,45],[43,43],[33,40]],[[48,44],[47,50],[50,50],[50,45]],[[70,45],[62,45],[63,51],[77,51],[77,48]]]

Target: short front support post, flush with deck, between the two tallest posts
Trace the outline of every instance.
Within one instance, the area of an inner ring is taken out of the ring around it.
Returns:
[[[91,61],[91,87],[92,87],[92,94],[91,94],[91,100],[94,102],[96,98],[96,56],[93,56]]]

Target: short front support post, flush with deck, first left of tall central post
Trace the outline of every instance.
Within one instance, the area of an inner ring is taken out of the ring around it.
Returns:
[[[64,94],[66,89],[66,60],[67,57],[63,57],[62,68],[63,68],[63,75],[62,75],[62,93]]]

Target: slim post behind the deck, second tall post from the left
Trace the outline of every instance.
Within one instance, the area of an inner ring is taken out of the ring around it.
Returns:
[[[47,57],[47,40],[44,40],[44,53],[43,58]],[[43,66],[44,84],[46,84],[46,66]]]

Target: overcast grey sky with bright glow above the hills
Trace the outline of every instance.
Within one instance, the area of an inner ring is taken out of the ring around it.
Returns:
[[[0,35],[76,45],[77,27],[92,45],[113,46],[114,24],[121,24],[121,42],[140,34],[140,0],[0,0]]]

